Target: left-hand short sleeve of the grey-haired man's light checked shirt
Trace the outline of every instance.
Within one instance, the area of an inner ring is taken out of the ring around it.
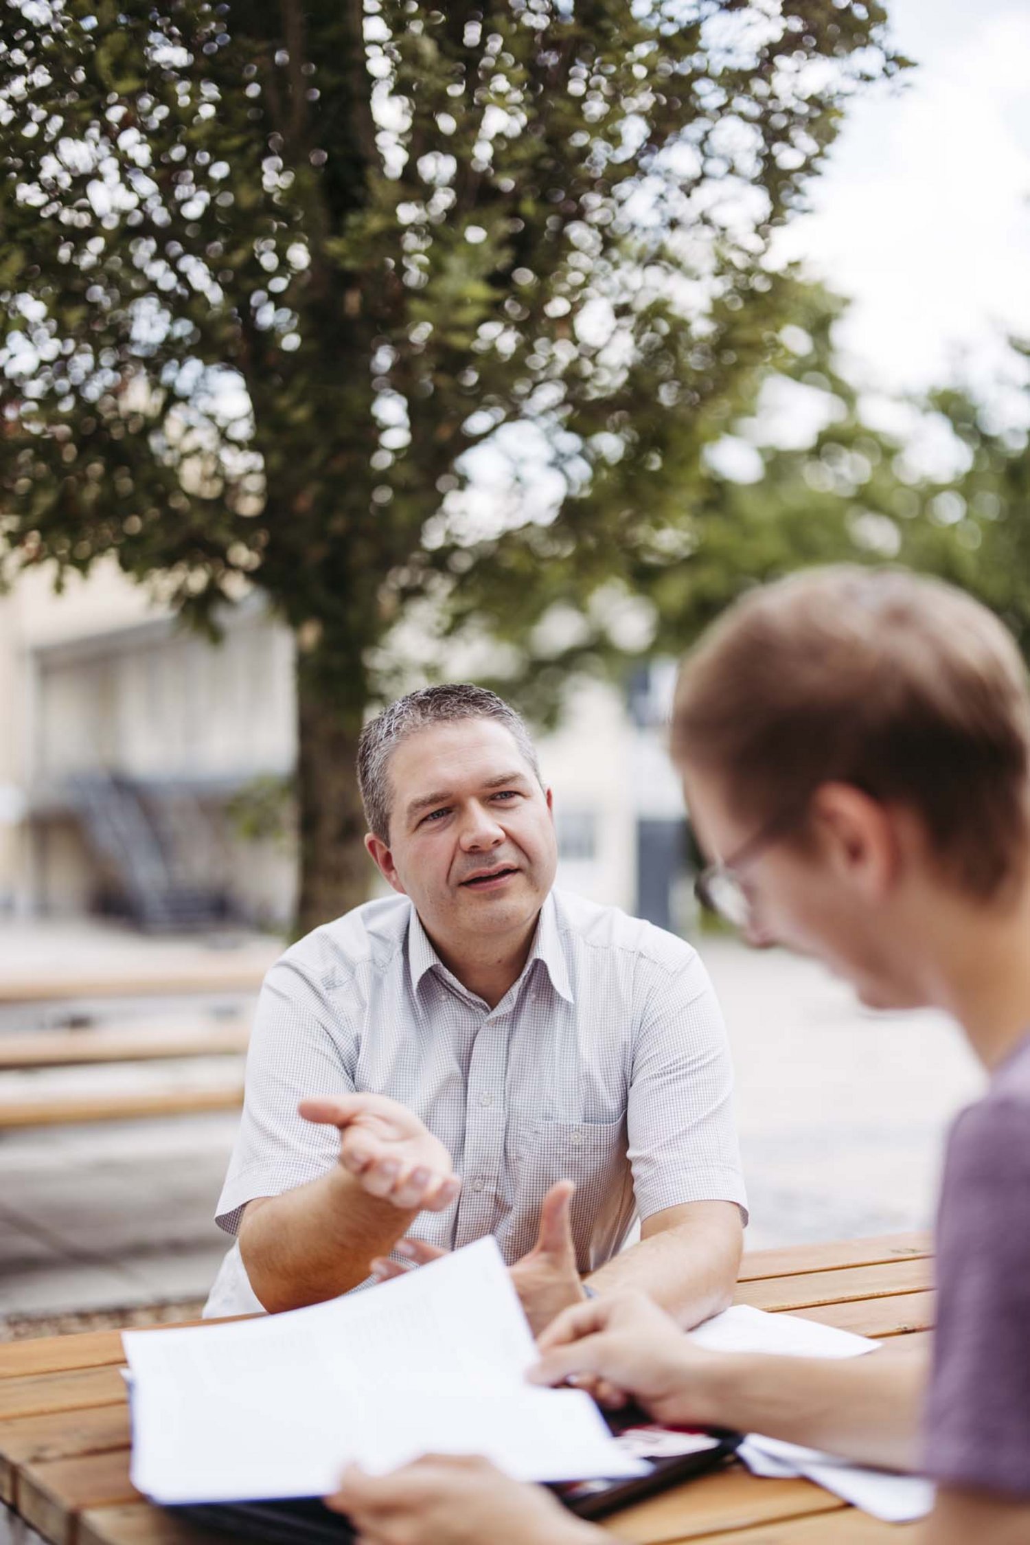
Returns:
[[[354,1027],[338,989],[327,993],[289,956],[264,980],[247,1052],[239,1134],[215,1221],[239,1228],[258,1196],[280,1196],[324,1174],[337,1162],[340,1134],[296,1114],[306,1095],[354,1092]]]

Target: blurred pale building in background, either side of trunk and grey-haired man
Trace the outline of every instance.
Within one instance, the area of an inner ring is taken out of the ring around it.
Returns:
[[[672,667],[629,694],[585,683],[540,742],[559,884],[666,927],[689,924],[681,793],[664,723]],[[247,811],[295,760],[293,646],[255,595],[219,644],[114,569],[0,596],[0,908],[127,913],[144,927],[276,927],[289,836]]]

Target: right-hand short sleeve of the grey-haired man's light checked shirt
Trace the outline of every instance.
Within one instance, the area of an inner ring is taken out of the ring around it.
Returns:
[[[735,1202],[747,1221],[732,1089],[723,1014],[690,952],[655,983],[633,1048],[627,1134],[641,1217]]]

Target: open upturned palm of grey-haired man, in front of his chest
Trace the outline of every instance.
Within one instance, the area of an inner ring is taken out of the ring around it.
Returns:
[[[462,1188],[443,1143],[385,1094],[301,1100],[307,1122],[340,1128],[340,1163],[363,1191],[401,1211],[439,1213]]]

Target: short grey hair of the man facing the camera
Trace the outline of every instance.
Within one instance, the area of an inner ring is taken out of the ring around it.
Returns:
[[[391,783],[389,763],[394,751],[417,729],[429,725],[456,725],[462,718],[493,718],[503,725],[533,768],[542,786],[536,746],[522,717],[496,692],[468,681],[425,686],[389,703],[371,718],[358,740],[358,788],[369,831],[389,842]]]

